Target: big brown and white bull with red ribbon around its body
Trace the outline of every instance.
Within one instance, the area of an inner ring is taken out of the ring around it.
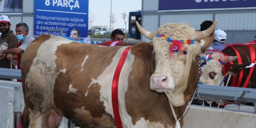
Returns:
[[[120,72],[118,106],[123,128],[175,126],[169,101],[177,118],[182,117],[198,82],[198,55],[213,40],[203,39],[211,35],[216,23],[202,32],[181,23],[165,24],[157,32],[138,26],[153,45],[134,45]],[[194,44],[180,44],[178,39],[193,39]],[[173,42],[180,49],[173,48]],[[22,58],[23,128],[55,128],[62,116],[81,128],[116,128],[112,81],[126,48],[50,35],[35,39]]]

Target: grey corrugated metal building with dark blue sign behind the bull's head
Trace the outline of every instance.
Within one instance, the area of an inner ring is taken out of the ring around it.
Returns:
[[[199,31],[203,21],[218,19],[215,29],[227,33],[225,43],[256,39],[256,0],[142,0],[141,16],[143,28],[152,32],[165,23],[191,24]]]

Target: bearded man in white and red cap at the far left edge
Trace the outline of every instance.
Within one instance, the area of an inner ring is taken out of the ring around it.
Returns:
[[[18,45],[18,39],[13,33],[13,31],[10,30],[11,23],[10,19],[6,15],[0,16],[0,31],[2,32],[0,36],[0,45],[3,43],[8,44],[8,49],[15,48]],[[12,66],[15,68],[15,66]],[[0,68],[11,68],[10,61],[7,58],[3,58],[0,60]],[[3,79],[3,78],[0,78]],[[5,79],[9,80],[9,79]]]

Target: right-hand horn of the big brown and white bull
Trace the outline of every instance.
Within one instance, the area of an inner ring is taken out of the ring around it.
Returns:
[[[196,31],[192,37],[194,41],[199,41],[201,39],[204,39],[206,37],[211,36],[212,32],[214,31],[214,28],[217,24],[217,19],[214,21],[214,23],[211,25],[210,28],[204,30],[204,31]]]

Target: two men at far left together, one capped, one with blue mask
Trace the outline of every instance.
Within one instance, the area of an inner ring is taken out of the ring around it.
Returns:
[[[0,68],[15,68],[20,69],[20,62],[23,52],[29,44],[35,39],[28,34],[29,27],[26,23],[16,24],[15,32],[10,30],[11,22],[8,16],[0,16]],[[2,80],[10,80],[0,78]]]

